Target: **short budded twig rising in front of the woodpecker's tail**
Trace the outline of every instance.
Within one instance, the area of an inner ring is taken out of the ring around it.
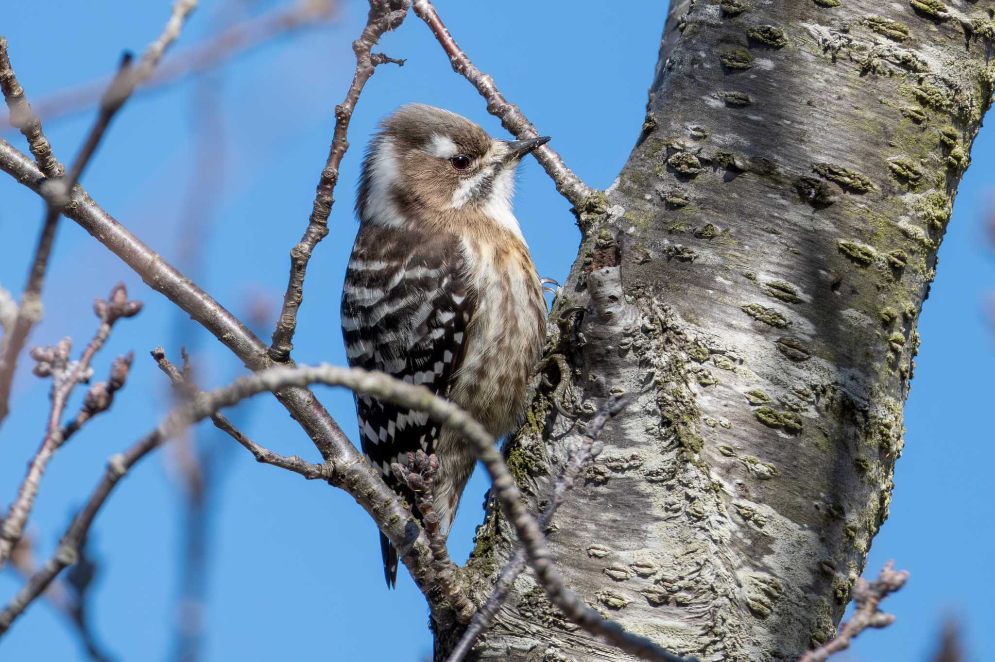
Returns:
[[[424,450],[419,449],[414,453],[408,453],[407,464],[394,462],[390,468],[398,481],[407,485],[414,493],[415,507],[421,513],[422,524],[428,534],[429,549],[432,550],[439,584],[450,606],[456,611],[457,620],[463,624],[469,623],[476,607],[456,579],[456,564],[449,558],[446,536],[442,533],[439,513],[435,509],[433,488],[436,473],[439,471],[439,458],[435,453],[426,455]]]

